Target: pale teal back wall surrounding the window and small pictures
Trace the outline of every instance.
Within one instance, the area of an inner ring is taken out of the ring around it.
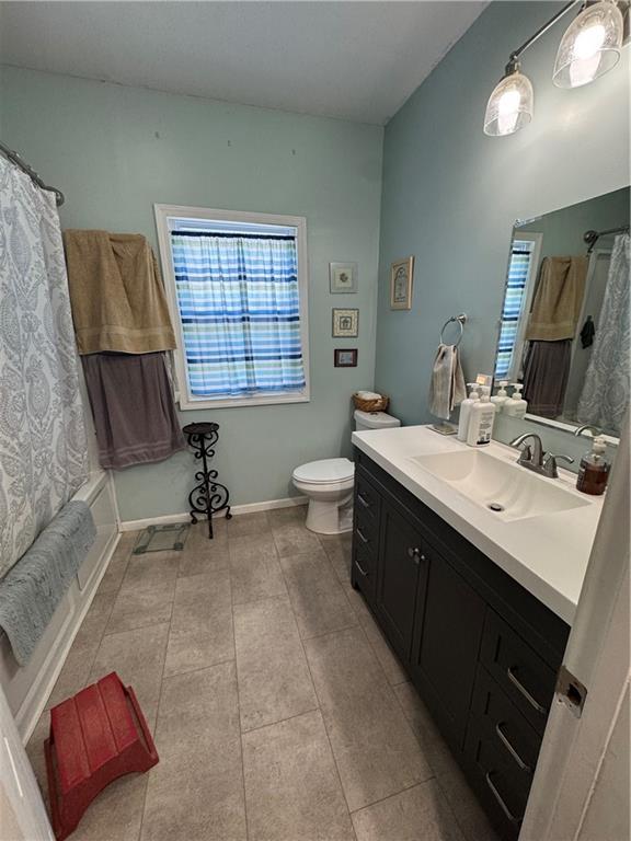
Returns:
[[[372,387],[381,128],[5,68],[0,135],[66,193],[62,227],[146,234],[153,203],[306,216],[311,402],[182,413],[221,426],[216,465],[234,504],[294,495],[291,471],[348,454],[351,394]],[[359,292],[329,293],[329,262],[359,264]],[[359,339],[331,338],[358,307]],[[359,349],[334,369],[333,347]],[[186,509],[192,458],[116,474],[124,520]]]

